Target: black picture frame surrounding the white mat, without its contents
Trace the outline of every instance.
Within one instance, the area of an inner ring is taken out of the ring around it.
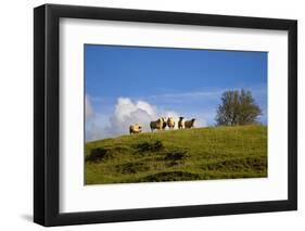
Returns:
[[[60,18],[287,30],[289,146],[288,200],[101,211],[59,211]],[[236,215],[297,209],[297,22],[178,12],[45,4],[34,9],[34,221],[46,226]]]

